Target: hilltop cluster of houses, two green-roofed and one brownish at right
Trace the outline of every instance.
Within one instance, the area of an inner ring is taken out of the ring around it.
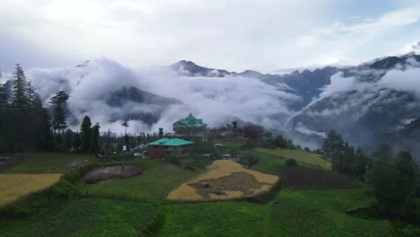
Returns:
[[[264,128],[260,126],[234,127],[229,134],[219,132],[210,133],[202,118],[195,118],[189,114],[187,118],[181,118],[173,123],[173,131],[169,137],[161,138],[147,144],[147,153],[151,158],[163,158],[165,156],[182,157],[192,153],[194,141],[207,141],[207,136],[230,136],[260,139],[264,135]]]

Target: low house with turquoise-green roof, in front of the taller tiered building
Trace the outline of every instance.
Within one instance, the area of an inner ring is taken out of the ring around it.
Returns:
[[[151,158],[182,157],[192,153],[193,143],[179,138],[162,138],[147,145]]]

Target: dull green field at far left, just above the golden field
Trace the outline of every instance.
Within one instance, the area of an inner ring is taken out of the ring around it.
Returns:
[[[65,173],[78,168],[83,161],[91,158],[89,154],[32,153],[18,165],[10,167],[5,173]]]

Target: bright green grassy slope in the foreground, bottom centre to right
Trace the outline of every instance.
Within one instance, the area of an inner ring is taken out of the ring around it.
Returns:
[[[389,223],[346,215],[362,189],[281,191],[268,205],[247,202],[167,206],[161,236],[387,236]]]

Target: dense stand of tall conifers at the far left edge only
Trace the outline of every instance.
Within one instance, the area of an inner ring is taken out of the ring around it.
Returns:
[[[23,69],[16,65],[13,87],[0,86],[0,153],[52,150],[48,111]]]

